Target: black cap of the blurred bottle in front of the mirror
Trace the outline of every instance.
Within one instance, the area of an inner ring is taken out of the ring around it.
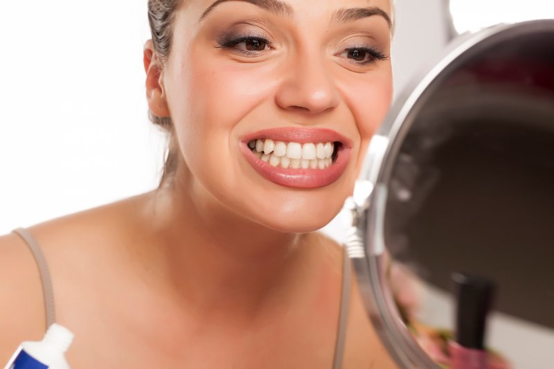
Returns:
[[[452,275],[456,286],[456,341],[474,350],[485,348],[487,314],[492,307],[494,283],[478,276],[463,273]]]

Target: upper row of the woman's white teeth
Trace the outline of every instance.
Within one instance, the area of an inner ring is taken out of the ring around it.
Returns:
[[[333,156],[333,143],[285,143],[271,139],[250,141],[249,147],[256,152],[263,152],[265,155],[273,153],[275,156],[287,156],[289,159],[330,159]]]

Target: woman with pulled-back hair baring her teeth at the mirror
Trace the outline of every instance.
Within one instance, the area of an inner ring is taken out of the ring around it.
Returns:
[[[150,0],[159,189],[29,229],[74,368],[330,368],[352,191],[392,96],[389,0]],[[0,238],[0,361],[44,334],[37,265]],[[354,286],[355,287],[355,286]],[[359,296],[344,368],[393,367]]]

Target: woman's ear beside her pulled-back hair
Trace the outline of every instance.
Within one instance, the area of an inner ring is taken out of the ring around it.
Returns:
[[[146,100],[148,101],[148,107],[155,116],[170,116],[166,91],[163,88],[163,63],[154,51],[154,44],[151,39],[144,44],[143,62],[146,72]]]

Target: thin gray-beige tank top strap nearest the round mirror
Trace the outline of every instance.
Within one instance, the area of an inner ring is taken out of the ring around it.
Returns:
[[[346,246],[343,252],[343,271],[341,288],[341,307],[339,312],[339,329],[337,330],[337,341],[334,348],[333,369],[342,368],[344,356],[344,344],[346,343],[346,330],[348,328],[348,315],[350,312],[350,289],[352,280],[352,264]]]

